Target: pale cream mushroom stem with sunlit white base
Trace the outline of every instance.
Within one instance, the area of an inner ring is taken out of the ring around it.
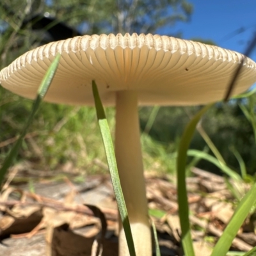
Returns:
[[[135,91],[116,93],[115,152],[122,191],[131,223],[136,255],[152,255],[141,156],[138,95]],[[124,228],[122,227],[121,221],[119,223],[119,255],[129,256]]]

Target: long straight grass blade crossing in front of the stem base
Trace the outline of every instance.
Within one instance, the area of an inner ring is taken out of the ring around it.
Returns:
[[[129,253],[131,256],[135,256],[136,253],[135,253],[134,243],[132,239],[130,222],[129,222],[128,213],[127,213],[127,209],[124,201],[124,195],[122,193],[122,188],[121,188],[118,170],[116,166],[115,150],[111,140],[108,121],[106,120],[106,115],[104,112],[104,108],[102,106],[102,102],[100,100],[99,92],[98,92],[95,81],[92,81],[92,90],[93,90],[93,97],[95,101],[95,108],[97,112],[97,119],[100,127],[100,133],[102,136],[102,141],[103,141],[105,152],[106,152],[109,172],[111,175],[111,180],[112,180],[113,188],[115,191],[118,209],[119,209],[121,220],[124,226],[124,232],[125,232],[125,237],[126,237],[126,241],[129,248]]]

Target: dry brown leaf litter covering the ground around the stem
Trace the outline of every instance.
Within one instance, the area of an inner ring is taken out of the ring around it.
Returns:
[[[28,173],[28,165],[23,170],[19,165],[19,171],[15,171],[21,176],[22,172]],[[237,200],[225,178],[198,168],[191,172],[193,177],[188,177],[187,186],[193,244],[197,256],[207,256],[234,213]],[[118,211],[109,176],[91,175],[81,184],[72,182],[74,177],[56,181],[47,173],[45,178],[39,173],[33,191],[29,191],[28,184],[8,182],[1,192],[3,255],[117,256]],[[183,255],[175,177],[145,172],[145,178],[161,255]],[[248,184],[239,184],[239,189],[247,191]],[[247,252],[256,246],[255,223],[252,213],[231,251]]]

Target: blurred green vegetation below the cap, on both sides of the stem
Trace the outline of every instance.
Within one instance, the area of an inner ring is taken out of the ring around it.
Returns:
[[[28,116],[31,100],[22,99],[6,92],[3,88],[0,88],[0,97],[4,99],[0,103],[0,141],[5,141],[19,134],[22,124],[25,122],[25,117]],[[253,96],[253,99],[255,99],[255,96]],[[244,108],[249,108],[248,104],[248,100],[243,100]],[[140,110],[141,131],[145,129],[151,109],[141,108]],[[175,158],[170,156],[177,150],[182,129],[197,109],[197,107],[187,107],[185,109],[162,107],[159,109],[149,136],[145,133],[141,134],[145,170],[150,168],[152,170],[153,168],[153,170],[160,172],[173,173],[175,171]],[[113,134],[115,109],[108,108],[106,111]],[[67,122],[60,126],[59,132],[56,132],[56,125],[61,124],[63,120]],[[54,169],[58,167],[58,164],[65,163],[68,159],[71,159],[78,168],[86,168],[95,158],[105,161],[104,150],[99,147],[99,132],[94,121],[95,110],[93,108],[77,108],[43,102],[29,132],[38,132],[35,140],[42,148],[44,162],[49,164],[49,168]],[[86,124],[86,129],[82,124]],[[246,172],[253,175],[256,169],[256,159],[254,157],[256,145],[253,129],[237,104],[217,104],[216,108],[210,109],[204,116],[202,126],[220,151],[225,162],[233,170],[240,173],[239,162],[233,153],[234,150],[230,150],[230,147],[239,152],[244,163],[246,163]],[[0,148],[0,161],[4,159],[11,145]],[[205,145],[202,136],[196,132],[191,142],[191,148],[202,150]],[[20,151],[19,157],[25,157],[25,159],[36,157],[33,150],[31,150],[29,141],[26,140],[22,147],[23,150]],[[26,150],[25,147],[30,148],[30,150]],[[86,157],[83,157],[85,155]],[[220,173],[218,166],[205,160],[201,160],[197,166]],[[102,171],[99,166],[95,165],[93,165],[92,170]]]

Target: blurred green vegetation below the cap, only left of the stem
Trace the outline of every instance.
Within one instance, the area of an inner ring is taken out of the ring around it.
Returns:
[[[15,98],[22,100],[20,97]],[[2,142],[17,136],[25,123],[26,116],[28,116],[31,100],[22,100],[23,104],[17,100],[1,107],[0,141]],[[110,116],[112,128],[115,109],[108,108],[107,113]],[[40,160],[38,168],[46,163],[46,168],[54,170],[58,168],[59,164],[67,161],[72,161],[77,168],[86,168],[86,166],[92,165],[93,159],[105,161],[104,150],[99,147],[100,133],[97,123],[95,123],[95,109],[93,108],[77,108],[43,102],[29,128],[28,133],[31,132],[35,133],[33,138],[36,144],[42,148],[42,156],[38,159]],[[10,147],[12,147],[12,143],[0,148],[2,161]],[[31,143],[29,140],[25,140],[18,160],[36,158],[38,157]],[[102,171],[99,166],[94,164],[91,170],[92,172]]]

